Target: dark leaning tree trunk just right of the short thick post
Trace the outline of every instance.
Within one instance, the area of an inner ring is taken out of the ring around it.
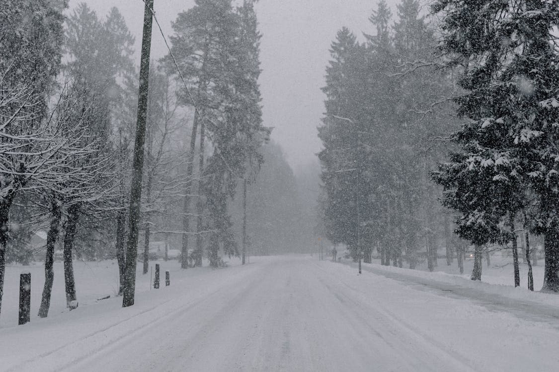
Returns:
[[[56,239],[58,239],[60,216],[62,214],[58,200],[51,202],[50,214],[50,227],[49,232],[46,234],[45,286],[42,289],[41,306],[39,307],[39,316],[41,318],[46,318],[49,315],[50,294],[53,289],[54,245],[56,244]]]

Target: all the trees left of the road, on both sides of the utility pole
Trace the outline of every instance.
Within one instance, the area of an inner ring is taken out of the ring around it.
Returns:
[[[74,255],[116,257],[120,292],[126,271],[135,40],[117,8],[102,18],[86,4],[68,17],[66,8],[63,0],[9,0],[0,10],[0,305],[6,263],[29,263],[37,254],[31,235],[45,230],[42,317],[57,247],[70,308]],[[182,250],[183,268],[201,265],[202,256],[219,266],[220,249],[239,254],[227,201],[260,168],[270,133],[261,118],[253,2],[197,1],[173,29],[169,55],[150,63],[144,273],[154,235]]]

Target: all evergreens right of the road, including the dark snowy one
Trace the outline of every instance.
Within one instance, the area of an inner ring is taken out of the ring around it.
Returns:
[[[319,134],[329,238],[412,268],[421,248],[430,269],[437,241],[466,242],[472,279],[488,245],[508,244],[518,286],[517,235],[543,235],[543,289],[557,292],[558,5],[441,0],[429,11],[436,21],[404,0],[391,24],[381,1],[375,36],[360,44],[344,28],[332,45]]]

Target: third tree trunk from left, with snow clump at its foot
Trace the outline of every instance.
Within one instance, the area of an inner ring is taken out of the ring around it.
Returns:
[[[74,238],[79,219],[79,204],[71,205],[68,208],[68,220],[65,224],[64,234],[64,286],[66,289],[66,306],[74,310],[77,297],[75,294],[74,267],[72,262],[72,252],[74,248]]]

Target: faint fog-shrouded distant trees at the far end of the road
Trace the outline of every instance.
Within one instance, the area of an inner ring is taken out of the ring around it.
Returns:
[[[318,177],[310,180],[294,174],[278,144],[262,147],[264,164],[247,185],[247,251],[252,255],[311,253],[314,247],[314,215],[316,195],[305,187],[316,189]],[[305,166],[305,171],[312,171]],[[243,216],[243,185],[231,200],[231,215],[235,221]],[[305,192],[306,191],[306,192]],[[234,226],[240,236],[242,225]]]

